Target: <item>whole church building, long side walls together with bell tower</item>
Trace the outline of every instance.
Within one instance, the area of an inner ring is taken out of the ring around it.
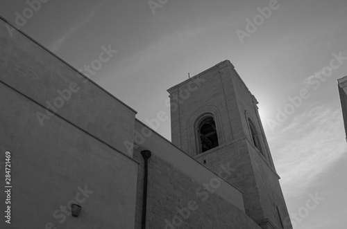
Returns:
[[[257,100],[228,60],[168,90],[171,143],[0,24],[0,228],[292,228]]]

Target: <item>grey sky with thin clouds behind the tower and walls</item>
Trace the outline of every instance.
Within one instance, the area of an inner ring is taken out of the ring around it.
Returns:
[[[294,228],[346,228],[346,0],[28,2],[0,0],[1,17],[77,69],[117,51],[90,77],[145,123],[169,116],[167,89],[229,59],[259,102]],[[155,130],[170,140],[169,120]]]

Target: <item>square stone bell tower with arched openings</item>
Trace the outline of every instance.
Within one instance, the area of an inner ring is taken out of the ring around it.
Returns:
[[[261,228],[291,228],[257,100],[234,66],[226,60],[168,92],[172,143],[241,190]]]

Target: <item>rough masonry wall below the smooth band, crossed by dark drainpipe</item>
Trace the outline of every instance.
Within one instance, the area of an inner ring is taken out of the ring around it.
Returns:
[[[134,151],[134,157],[143,162],[138,150]],[[135,229],[141,228],[143,163],[139,165],[137,177]],[[260,229],[244,212],[153,155],[149,159],[148,188],[146,226],[150,229]]]

